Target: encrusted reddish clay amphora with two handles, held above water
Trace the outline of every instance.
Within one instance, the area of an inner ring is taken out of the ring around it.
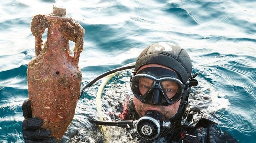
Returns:
[[[71,123],[80,97],[82,73],[78,67],[84,29],[65,16],[66,9],[53,7],[53,14],[36,15],[31,22],[36,56],[27,70],[33,117],[43,119],[42,128],[61,139]],[[48,28],[42,48],[42,33]],[[69,40],[75,42],[74,56]]]

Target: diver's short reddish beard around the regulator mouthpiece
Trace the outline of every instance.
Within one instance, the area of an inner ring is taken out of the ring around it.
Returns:
[[[174,111],[169,111],[167,110],[164,106],[161,105],[150,105],[150,104],[144,104],[144,105],[139,105],[139,108],[136,108],[136,112],[139,114],[140,117],[144,116],[143,112],[145,112],[147,108],[157,108],[160,110],[160,113],[163,114],[163,118],[161,121],[168,121],[170,120],[175,114]]]

